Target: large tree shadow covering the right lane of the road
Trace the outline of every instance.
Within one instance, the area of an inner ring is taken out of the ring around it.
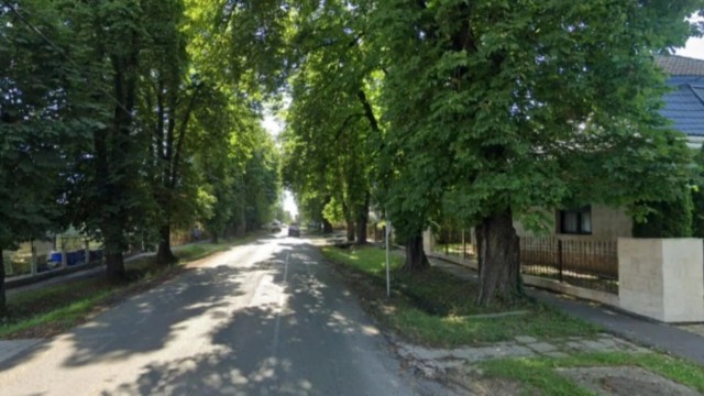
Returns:
[[[397,363],[376,355],[383,338],[317,251],[293,245],[251,268],[271,282],[210,329],[199,353],[152,361],[135,382],[102,394],[359,394],[370,383],[373,394],[399,393],[398,377],[383,375]]]

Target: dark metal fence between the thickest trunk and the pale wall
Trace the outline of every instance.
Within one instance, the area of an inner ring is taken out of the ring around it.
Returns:
[[[616,241],[520,238],[521,272],[618,294]]]

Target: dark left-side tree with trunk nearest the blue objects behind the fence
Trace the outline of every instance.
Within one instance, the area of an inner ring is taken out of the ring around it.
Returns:
[[[102,84],[111,87],[106,103],[112,114],[92,135],[89,200],[85,213],[87,228],[103,241],[107,277],[124,278],[123,252],[129,246],[128,231],[141,221],[139,210],[148,202],[148,190],[140,167],[147,145],[144,131],[135,120],[140,62],[146,28],[141,2],[111,0],[88,6],[90,44],[95,62],[103,64]]]

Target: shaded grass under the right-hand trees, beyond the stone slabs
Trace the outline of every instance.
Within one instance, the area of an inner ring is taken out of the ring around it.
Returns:
[[[386,298],[385,251],[322,248],[324,256],[348,272],[352,287],[384,326],[403,338],[432,346],[481,345],[513,340],[594,337],[600,328],[532,301],[514,306],[481,307],[474,304],[476,283],[459,279],[437,268],[421,274],[400,271],[403,256],[393,254],[391,299]],[[498,312],[525,312],[486,317]],[[477,317],[481,316],[481,317]]]

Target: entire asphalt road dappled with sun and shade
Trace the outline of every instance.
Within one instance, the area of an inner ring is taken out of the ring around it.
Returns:
[[[435,389],[435,391],[433,391]],[[415,395],[305,240],[234,248],[0,365],[1,395]]]

